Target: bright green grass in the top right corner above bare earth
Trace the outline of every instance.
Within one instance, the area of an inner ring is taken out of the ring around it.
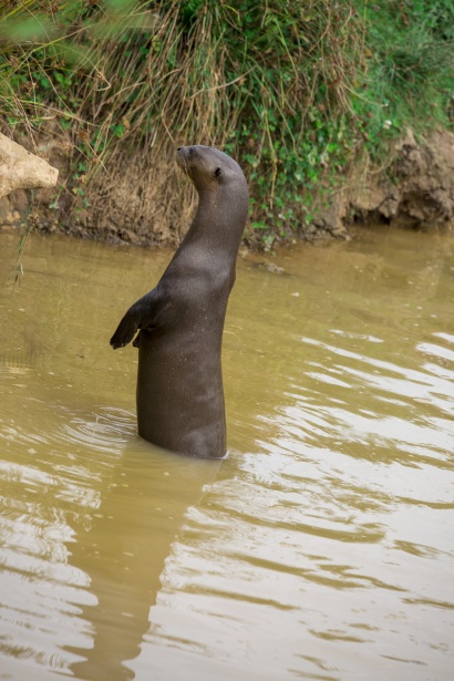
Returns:
[[[358,2],[367,27],[364,81],[355,113],[375,155],[386,135],[411,127],[424,134],[452,128],[454,4],[451,0]]]

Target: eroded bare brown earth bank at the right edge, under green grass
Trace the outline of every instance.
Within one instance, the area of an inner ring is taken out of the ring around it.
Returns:
[[[341,188],[322,208],[310,233],[349,237],[354,226],[386,223],[413,229],[454,224],[454,135],[434,132],[416,142],[412,131],[390,148],[385,167],[369,157],[353,165]]]

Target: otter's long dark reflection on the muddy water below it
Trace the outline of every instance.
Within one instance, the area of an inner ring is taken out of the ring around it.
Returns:
[[[64,648],[83,658],[70,669],[89,681],[133,679],[127,661],[138,656],[149,628],[149,609],[171,545],[219,463],[185,460],[149,446],[135,435],[135,416],[117,410],[92,423],[79,420],[66,425],[64,440],[89,445],[93,455],[117,453],[117,461],[105,466],[104,479],[99,481],[103,493],[99,503],[91,503],[90,524],[68,545],[69,563],[89,577],[95,599],[80,613],[90,647]],[[83,479],[83,471],[75,474]]]

